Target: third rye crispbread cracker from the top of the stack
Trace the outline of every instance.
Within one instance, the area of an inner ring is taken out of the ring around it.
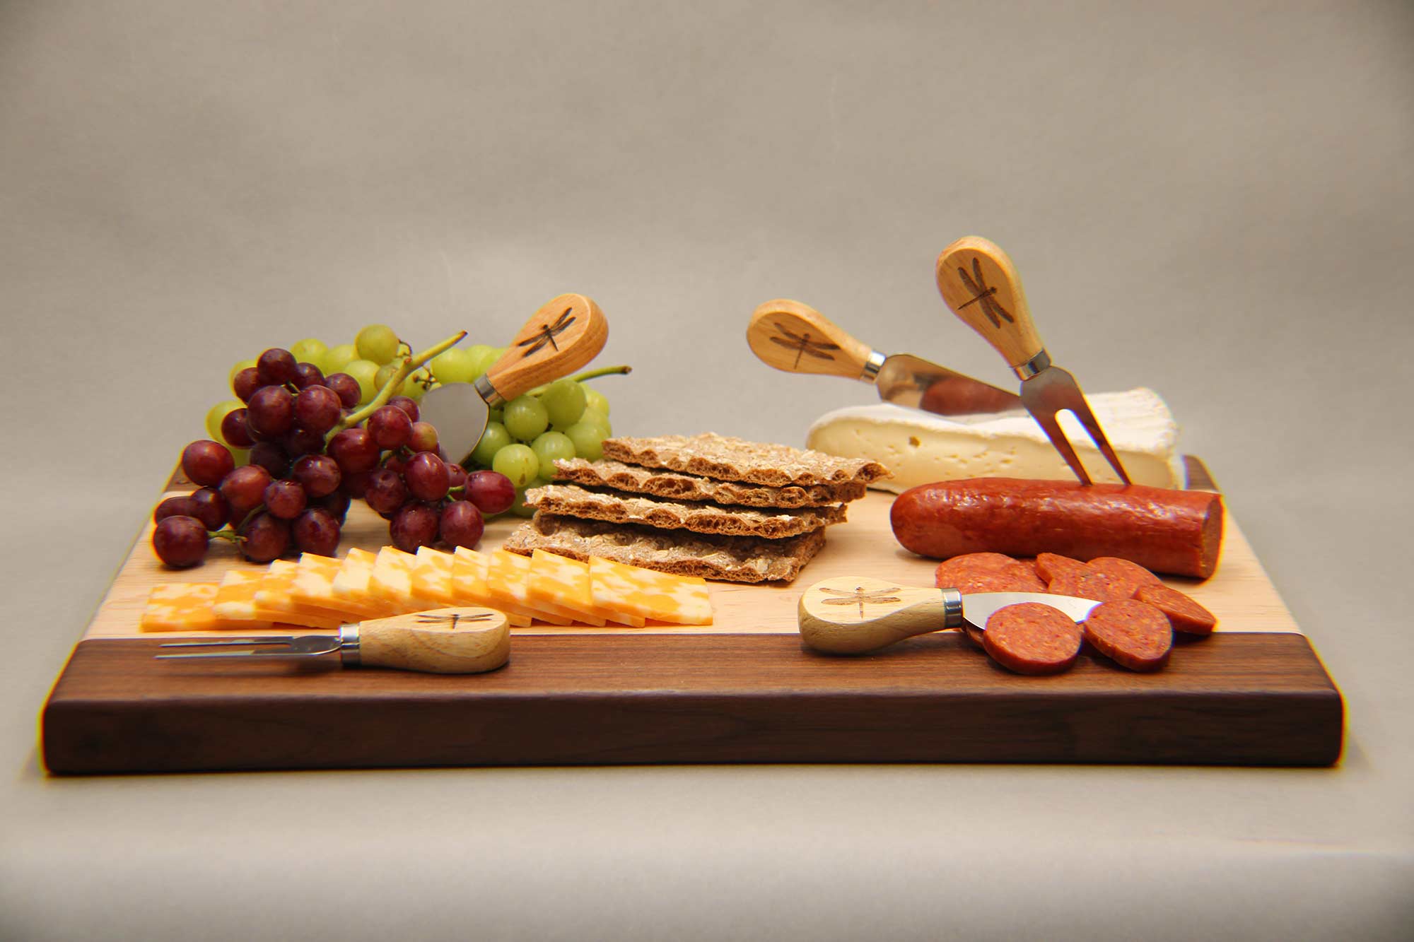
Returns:
[[[667,501],[641,494],[590,491],[574,484],[547,484],[530,488],[526,506],[556,516],[577,516],[609,523],[642,523],[665,530],[723,533],[785,539],[844,522],[844,508],[809,506],[795,511],[779,508],[730,508],[693,501]]]

